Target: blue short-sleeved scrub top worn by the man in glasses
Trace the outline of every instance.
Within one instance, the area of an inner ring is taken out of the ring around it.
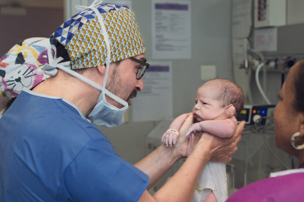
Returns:
[[[149,185],[61,98],[22,91],[0,131],[0,201],[137,201]]]

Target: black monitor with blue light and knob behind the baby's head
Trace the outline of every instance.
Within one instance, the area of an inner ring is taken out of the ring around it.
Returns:
[[[262,117],[273,116],[275,105],[244,105],[244,108],[237,115],[237,121],[245,121],[246,125],[253,125],[257,121],[261,125],[265,125],[266,120]]]

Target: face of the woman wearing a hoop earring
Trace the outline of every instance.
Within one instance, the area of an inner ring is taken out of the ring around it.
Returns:
[[[280,99],[275,107],[273,116],[275,123],[275,144],[279,149],[293,156],[297,155],[297,151],[292,147],[290,139],[300,128],[300,122],[297,121],[300,114],[292,107],[295,99],[294,79],[298,69],[297,65],[290,69],[286,81],[279,92]]]

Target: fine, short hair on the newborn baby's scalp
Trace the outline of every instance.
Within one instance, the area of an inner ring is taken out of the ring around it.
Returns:
[[[219,96],[216,99],[219,101],[221,105],[220,107],[233,104],[235,108],[235,113],[233,116],[237,116],[244,107],[245,98],[243,90],[240,86],[237,86],[237,84],[230,81],[229,79],[221,78],[211,79],[204,83],[202,86],[213,86],[219,84],[221,85],[221,90]]]

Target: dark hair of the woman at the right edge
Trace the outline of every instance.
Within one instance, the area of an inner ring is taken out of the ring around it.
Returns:
[[[292,107],[299,112],[304,112],[304,59],[296,63],[299,65],[299,71],[297,72],[294,84],[295,84],[295,99],[292,103]]]

